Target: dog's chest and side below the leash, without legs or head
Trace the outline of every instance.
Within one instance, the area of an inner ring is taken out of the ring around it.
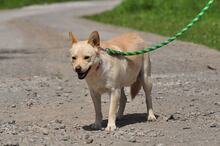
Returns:
[[[130,86],[137,80],[141,63],[125,58],[103,57],[98,70],[87,78],[90,88],[99,93]]]

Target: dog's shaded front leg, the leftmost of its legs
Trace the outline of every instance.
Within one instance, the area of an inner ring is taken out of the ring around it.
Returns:
[[[99,130],[102,128],[102,108],[101,108],[101,95],[90,90],[92,101],[95,107],[95,123],[91,125],[92,129]]]

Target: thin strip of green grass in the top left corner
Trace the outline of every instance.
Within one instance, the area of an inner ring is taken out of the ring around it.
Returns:
[[[0,9],[20,8],[33,4],[48,4],[54,2],[66,2],[76,0],[0,0]]]

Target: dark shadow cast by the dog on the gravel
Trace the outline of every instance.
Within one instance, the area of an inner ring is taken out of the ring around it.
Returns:
[[[158,118],[159,116],[156,115]],[[147,114],[146,113],[133,113],[133,114],[127,114],[124,115],[121,119],[116,121],[117,127],[124,127],[127,125],[132,125],[136,123],[143,123],[147,121]],[[108,120],[105,119],[102,121],[102,127],[106,127],[108,123]],[[95,131],[91,128],[91,125],[85,125],[82,127],[86,131]]]

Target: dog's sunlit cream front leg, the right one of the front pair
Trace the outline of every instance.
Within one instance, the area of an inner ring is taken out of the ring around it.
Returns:
[[[116,113],[118,110],[119,100],[121,97],[121,89],[114,89],[111,91],[111,102],[109,108],[108,125],[106,131],[114,131],[116,129]]]

